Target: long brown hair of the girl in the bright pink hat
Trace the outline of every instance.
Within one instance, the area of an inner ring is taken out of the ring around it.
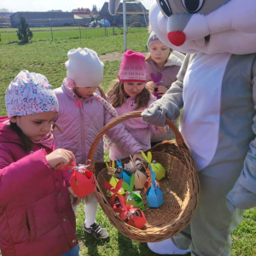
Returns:
[[[120,82],[118,79],[113,80],[111,88],[108,90],[109,101],[113,105],[113,108],[119,108],[125,102],[126,96],[124,89],[124,83]],[[150,92],[146,87],[136,96],[135,103],[136,108],[147,108],[148,102],[150,100]]]

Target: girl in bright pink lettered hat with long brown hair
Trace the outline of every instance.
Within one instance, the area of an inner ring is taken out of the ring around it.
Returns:
[[[113,88],[108,90],[108,96],[113,108],[119,115],[135,110],[143,110],[155,101],[146,85],[146,64],[142,53],[127,50],[119,69],[119,80],[114,81]],[[153,133],[166,132],[165,127],[151,126],[143,122],[142,118],[128,119],[124,122],[129,131],[143,150],[150,148],[150,131]],[[117,159],[129,156],[126,148],[114,144],[110,148],[110,158]]]

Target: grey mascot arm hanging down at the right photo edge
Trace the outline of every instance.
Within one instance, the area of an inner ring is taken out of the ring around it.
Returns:
[[[253,65],[253,102],[256,109],[256,61]],[[253,117],[253,132],[256,134],[256,115]],[[256,138],[250,143],[241,175],[227,195],[231,211],[235,207],[249,209],[256,207]]]

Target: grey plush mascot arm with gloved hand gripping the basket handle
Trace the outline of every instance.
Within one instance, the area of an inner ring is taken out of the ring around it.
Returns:
[[[177,80],[166,91],[166,94],[143,111],[143,120],[148,124],[164,126],[166,117],[171,120],[178,118],[179,110],[183,108],[183,79],[190,58],[191,55],[186,55],[183,65],[177,74]]]

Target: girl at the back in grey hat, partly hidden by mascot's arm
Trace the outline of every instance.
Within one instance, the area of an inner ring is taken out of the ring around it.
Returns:
[[[154,32],[150,33],[147,45],[149,54],[146,58],[148,73],[146,86],[150,93],[160,98],[176,81],[184,55],[172,51],[156,37]],[[173,124],[177,126],[177,121],[173,121]],[[171,140],[173,137],[175,136],[171,129],[166,134],[151,134],[151,147],[161,141]]]

